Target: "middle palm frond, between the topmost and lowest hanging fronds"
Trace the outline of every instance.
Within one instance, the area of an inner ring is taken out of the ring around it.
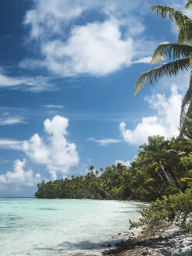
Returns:
[[[156,48],[151,64],[155,64],[164,60],[166,57],[169,59],[180,59],[188,58],[192,56],[192,46],[186,44],[172,44],[169,42],[164,42],[158,45]]]

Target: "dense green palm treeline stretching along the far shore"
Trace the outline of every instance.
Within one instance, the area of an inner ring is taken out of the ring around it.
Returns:
[[[148,137],[137,158],[125,165],[94,169],[85,176],[37,184],[37,198],[88,198],[154,201],[184,192],[192,180],[192,120],[183,137]]]

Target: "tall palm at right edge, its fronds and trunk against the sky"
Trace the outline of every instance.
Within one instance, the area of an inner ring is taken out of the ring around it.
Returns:
[[[192,8],[192,1],[187,0],[186,9]],[[189,70],[192,67],[192,20],[183,12],[173,9],[169,6],[154,5],[151,7],[153,12],[157,12],[165,19],[167,16],[172,21],[175,21],[176,27],[179,30],[178,44],[164,42],[156,48],[151,64],[163,61],[166,57],[169,59],[176,59],[172,62],[165,63],[152,69],[148,72],[142,73],[135,87],[135,95],[140,91],[145,84],[153,84],[158,77],[165,75],[176,76],[180,70]],[[190,84],[187,93],[183,98],[180,116],[180,136],[183,136],[186,130],[185,116],[192,117],[192,76],[190,73]]]

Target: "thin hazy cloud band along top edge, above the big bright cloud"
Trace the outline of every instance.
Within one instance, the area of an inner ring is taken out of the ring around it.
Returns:
[[[140,7],[142,4],[142,8]],[[130,28],[133,30],[133,24],[136,25],[137,15],[146,12],[150,7],[146,0],[135,0],[134,2],[125,2],[124,0],[38,0],[34,1],[34,9],[27,11],[24,24],[30,26],[30,37],[37,39],[39,37],[52,37],[52,34],[63,35],[64,28],[73,20],[82,16],[90,10],[105,13],[107,18],[116,18],[123,21],[125,16],[129,16]],[[133,12],[136,14],[133,17]],[[132,18],[132,19],[130,19]],[[133,22],[134,21],[134,22]],[[129,24],[129,23],[128,23]],[[133,30],[141,30],[142,23]]]

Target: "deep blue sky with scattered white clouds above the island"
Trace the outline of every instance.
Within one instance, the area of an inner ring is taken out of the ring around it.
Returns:
[[[151,5],[184,0],[0,0],[0,197],[42,180],[127,166],[148,136],[177,136],[189,73],[137,97],[158,44],[176,43]],[[188,13],[190,15],[190,13]]]

